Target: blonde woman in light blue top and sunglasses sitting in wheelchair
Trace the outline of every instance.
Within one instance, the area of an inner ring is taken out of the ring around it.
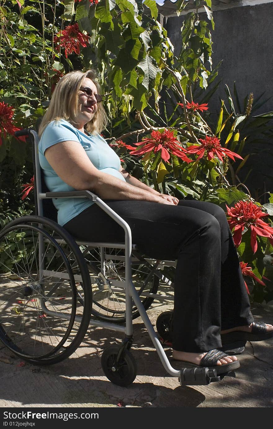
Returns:
[[[40,125],[39,157],[50,191],[91,190],[131,227],[140,251],[176,259],[173,358],[215,368],[239,367],[222,342],[260,341],[273,326],[253,323],[227,218],[217,205],[162,195],[127,173],[100,136],[107,124],[92,70],[56,85]],[[78,239],[118,242],[124,232],[87,199],[55,199],[58,223]]]

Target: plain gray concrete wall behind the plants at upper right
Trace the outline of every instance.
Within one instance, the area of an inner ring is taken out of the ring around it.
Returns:
[[[200,15],[202,17],[202,14]],[[219,111],[221,98],[227,100],[224,84],[233,91],[235,81],[239,99],[242,101],[250,92],[254,97],[265,92],[261,100],[272,97],[255,114],[273,111],[273,3],[217,10],[213,12],[213,17],[215,30],[212,31],[212,61],[215,66],[219,61],[223,62],[218,74],[222,79],[221,84],[209,102],[209,110]],[[169,17],[165,25],[175,46],[175,54],[181,49],[183,18]],[[257,194],[261,194],[264,189],[272,193],[273,141],[269,141],[262,148],[261,145],[253,144],[246,148],[247,151],[253,153],[243,171],[245,174],[253,168],[247,181],[248,186]]]

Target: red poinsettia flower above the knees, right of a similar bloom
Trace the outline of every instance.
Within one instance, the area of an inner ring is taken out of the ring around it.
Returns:
[[[235,152],[230,151],[227,148],[223,148],[220,145],[220,140],[217,137],[206,136],[206,139],[199,139],[201,145],[192,145],[187,149],[188,154],[196,154],[198,156],[198,160],[202,158],[205,153],[209,160],[215,157],[215,155],[223,161],[223,156],[230,157],[233,161],[235,161],[234,157],[243,159],[240,155]]]

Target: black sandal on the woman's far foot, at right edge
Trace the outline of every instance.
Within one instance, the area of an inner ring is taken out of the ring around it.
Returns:
[[[267,332],[264,322],[253,322],[252,331],[233,331],[221,334],[222,344],[234,343],[235,341],[265,341],[273,337],[273,331]]]

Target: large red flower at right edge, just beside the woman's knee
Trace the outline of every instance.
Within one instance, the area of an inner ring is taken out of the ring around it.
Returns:
[[[238,201],[234,207],[227,207],[227,215],[230,217],[228,223],[230,229],[233,230],[233,240],[236,247],[242,241],[242,233],[245,227],[251,230],[251,247],[253,253],[257,251],[257,234],[258,236],[268,237],[273,245],[273,228],[266,224],[261,218],[268,216],[267,213],[261,210],[258,205],[252,201]]]

